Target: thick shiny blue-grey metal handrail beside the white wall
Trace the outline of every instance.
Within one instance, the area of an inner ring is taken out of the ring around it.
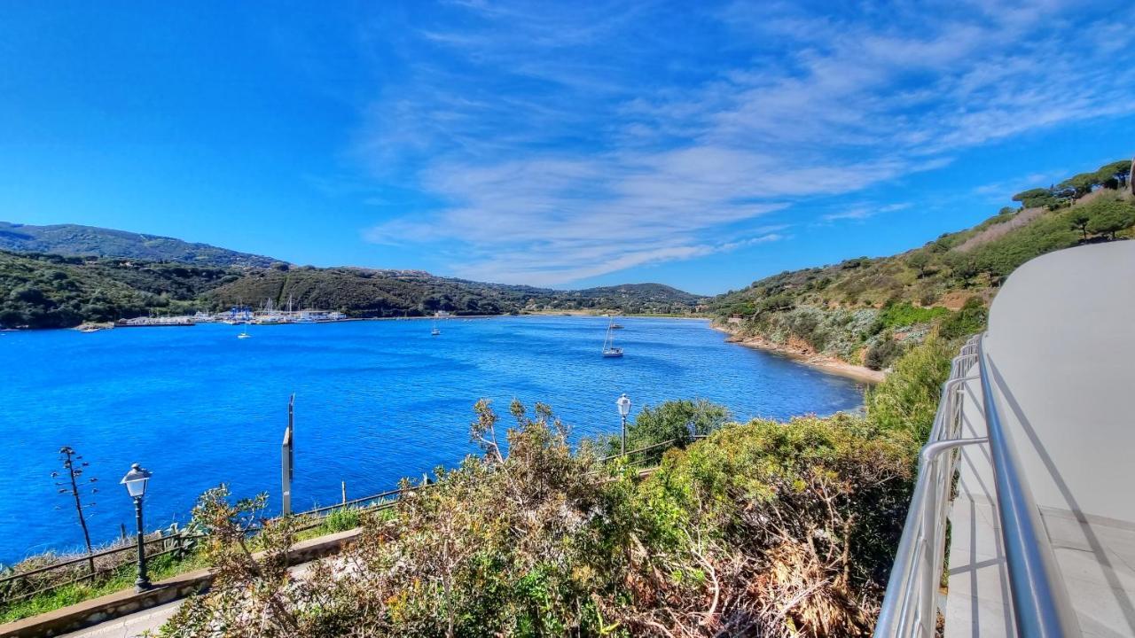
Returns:
[[[993,457],[997,510],[1004,539],[1017,633],[1029,638],[1081,636],[1076,613],[1068,602],[1068,590],[1060,578],[1060,566],[1041,522],[1040,510],[1025,481],[1009,434],[1001,425],[984,337],[978,342],[977,350],[985,425]]]

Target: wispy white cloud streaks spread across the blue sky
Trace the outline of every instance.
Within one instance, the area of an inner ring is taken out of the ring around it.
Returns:
[[[413,36],[430,54],[371,106],[355,150],[379,174],[412,167],[440,204],[365,237],[445,246],[466,277],[563,284],[783,240],[754,228],[965,149],[1135,112],[1132,31],[1100,7],[821,7],[459,3]],[[800,221],[909,204],[890,205]]]

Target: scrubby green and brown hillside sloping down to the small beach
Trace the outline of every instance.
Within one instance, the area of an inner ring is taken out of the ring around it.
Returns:
[[[738,337],[798,354],[885,368],[933,325],[975,331],[1018,266],[1082,243],[1130,237],[1130,161],[1018,193],[1020,208],[898,255],[785,271],[714,297]]]

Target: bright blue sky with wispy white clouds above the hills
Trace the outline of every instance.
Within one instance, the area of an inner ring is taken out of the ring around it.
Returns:
[[[0,219],[698,293],[1135,153],[1121,2],[5,2]]]

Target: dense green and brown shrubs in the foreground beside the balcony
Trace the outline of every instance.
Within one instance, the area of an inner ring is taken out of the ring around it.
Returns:
[[[218,580],[161,630],[220,636],[869,635],[901,534],[916,433],[957,342],[915,347],[865,418],[722,422],[671,402],[630,427],[647,443],[708,436],[654,472],[572,451],[550,409],[477,406],[482,454],[438,469],[393,515],[303,579],[281,569],[293,522],[264,521],[267,557],[241,547],[255,507],[210,492],[195,510]],[[907,363],[909,361],[909,363]],[[700,429],[700,428],[706,429]]]

